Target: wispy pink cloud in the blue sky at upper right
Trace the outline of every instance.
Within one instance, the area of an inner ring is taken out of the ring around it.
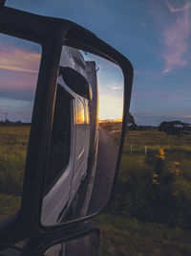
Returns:
[[[171,25],[166,25],[163,31],[165,51],[162,57],[166,61],[163,74],[170,72],[176,67],[186,65],[183,54],[188,50],[189,36],[191,31],[190,22],[190,4],[186,4],[180,9],[174,9],[170,4],[165,2],[170,12],[174,14],[175,21]]]

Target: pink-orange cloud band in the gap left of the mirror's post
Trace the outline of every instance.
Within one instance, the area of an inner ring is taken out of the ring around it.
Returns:
[[[27,52],[18,48],[6,48],[0,51],[0,68],[16,71],[38,73],[40,54]]]

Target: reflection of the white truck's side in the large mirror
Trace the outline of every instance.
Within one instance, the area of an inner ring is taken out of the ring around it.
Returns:
[[[90,163],[94,162],[96,165],[96,161],[93,161],[93,158],[96,159],[97,149],[96,63],[86,62],[78,50],[64,46],[60,65],[73,68],[89,81],[93,100],[89,101],[75,94],[62,77],[58,76],[45,195],[42,203],[43,225],[54,225],[62,221],[66,215],[68,215],[67,221],[74,219],[72,211],[80,184],[88,174]],[[91,166],[91,170],[95,172],[96,166]],[[80,209],[80,217],[86,215],[94,183],[92,179],[85,204]]]

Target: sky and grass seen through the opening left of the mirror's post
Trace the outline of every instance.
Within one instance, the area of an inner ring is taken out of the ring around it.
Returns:
[[[0,221],[20,207],[41,48],[0,35]]]

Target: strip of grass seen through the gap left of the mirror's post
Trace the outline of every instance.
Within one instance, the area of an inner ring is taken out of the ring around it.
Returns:
[[[0,221],[20,206],[30,127],[0,127]]]

